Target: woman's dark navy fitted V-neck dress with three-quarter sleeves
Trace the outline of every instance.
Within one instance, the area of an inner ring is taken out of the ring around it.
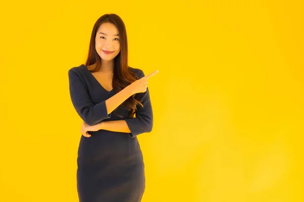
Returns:
[[[139,78],[140,69],[131,68]],[[77,190],[80,202],[139,202],[145,190],[144,163],[137,135],[150,132],[153,112],[148,89],[137,93],[134,118],[120,105],[107,114],[105,100],[115,95],[107,91],[85,65],[68,71],[72,105],[84,122],[95,125],[102,121],[125,120],[131,133],[107,130],[89,131],[81,135],[77,158]]]

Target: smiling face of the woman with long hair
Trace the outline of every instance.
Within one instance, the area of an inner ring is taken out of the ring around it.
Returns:
[[[102,60],[110,61],[120,52],[119,33],[112,23],[102,23],[96,33],[95,49]],[[109,54],[105,52],[110,52]]]

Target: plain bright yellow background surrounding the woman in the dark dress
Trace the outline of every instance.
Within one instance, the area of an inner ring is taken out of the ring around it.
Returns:
[[[142,201],[304,201],[303,3],[7,1],[1,8],[0,201],[78,201],[82,120],[67,71],[105,13],[148,74]]]

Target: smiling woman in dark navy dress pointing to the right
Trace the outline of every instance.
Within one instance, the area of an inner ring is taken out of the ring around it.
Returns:
[[[137,202],[145,189],[136,136],[152,130],[147,79],[158,71],[145,76],[128,67],[127,55],[124,22],[106,14],[93,27],[86,63],[68,71],[71,102],[84,121],[77,159],[81,202]]]

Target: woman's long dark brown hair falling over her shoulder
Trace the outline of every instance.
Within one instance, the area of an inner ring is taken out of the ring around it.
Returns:
[[[128,40],[127,40],[127,32],[125,23],[123,20],[116,14],[105,14],[101,16],[94,24],[91,40],[89,45],[89,53],[87,60],[85,62],[85,66],[88,67],[90,65],[94,65],[94,69],[90,70],[91,72],[97,72],[101,67],[101,58],[97,54],[95,49],[95,37],[99,26],[102,23],[109,22],[115,25],[118,29],[120,35],[120,52],[114,58],[114,71],[113,71],[113,80],[112,86],[116,92],[121,91],[126,86],[134,82],[136,79],[139,79],[138,75],[131,71],[128,66]],[[139,100],[135,99],[135,94],[130,96],[125,102],[122,104],[127,110],[131,111],[130,118],[134,117],[134,114],[137,109],[137,105],[142,104]]]

